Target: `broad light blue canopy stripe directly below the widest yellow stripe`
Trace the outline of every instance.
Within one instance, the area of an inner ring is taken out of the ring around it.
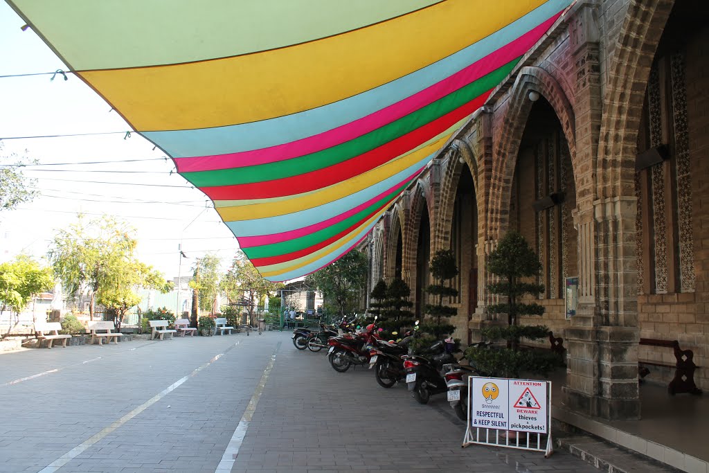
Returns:
[[[172,157],[223,155],[258,150],[318,135],[370,115],[440,82],[554,16],[568,0],[550,0],[474,45],[428,67],[333,104],[271,118],[199,130],[143,131]],[[278,130],[275,133],[274,130]]]

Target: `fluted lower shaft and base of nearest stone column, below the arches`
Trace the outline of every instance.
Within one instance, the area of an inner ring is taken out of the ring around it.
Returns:
[[[566,329],[569,371],[564,401],[588,416],[640,418],[636,205],[634,196],[598,200],[592,227],[588,211],[579,216],[579,261],[584,268],[586,255],[593,255],[594,284],[583,304],[580,297],[580,310]]]

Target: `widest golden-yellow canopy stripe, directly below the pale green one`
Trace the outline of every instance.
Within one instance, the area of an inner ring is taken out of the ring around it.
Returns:
[[[466,48],[544,0],[448,0],[290,48],[181,65],[80,72],[138,131],[208,128],[309,110]]]

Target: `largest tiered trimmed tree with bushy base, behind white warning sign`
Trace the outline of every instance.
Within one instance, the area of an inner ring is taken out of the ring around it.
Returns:
[[[549,334],[545,325],[519,325],[522,316],[542,316],[544,306],[525,299],[544,291],[544,285],[531,281],[542,272],[542,263],[527,240],[515,231],[508,232],[498,247],[491,252],[488,271],[498,277],[498,282],[489,284],[491,294],[503,299],[490,304],[487,311],[498,320],[507,316],[508,325],[481,330],[484,340],[505,341],[506,347],[488,349],[469,347],[465,356],[481,372],[489,376],[518,377],[521,371],[545,373],[558,365],[558,357],[548,350],[520,351],[520,338],[538,340]]]

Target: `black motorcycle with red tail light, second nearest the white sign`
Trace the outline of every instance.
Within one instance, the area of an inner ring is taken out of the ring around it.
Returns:
[[[453,344],[439,341],[426,350],[426,356],[406,355],[406,386],[420,404],[427,404],[430,396],[446,392],[448,387],[441,374],[443,365],[454,361]]]

